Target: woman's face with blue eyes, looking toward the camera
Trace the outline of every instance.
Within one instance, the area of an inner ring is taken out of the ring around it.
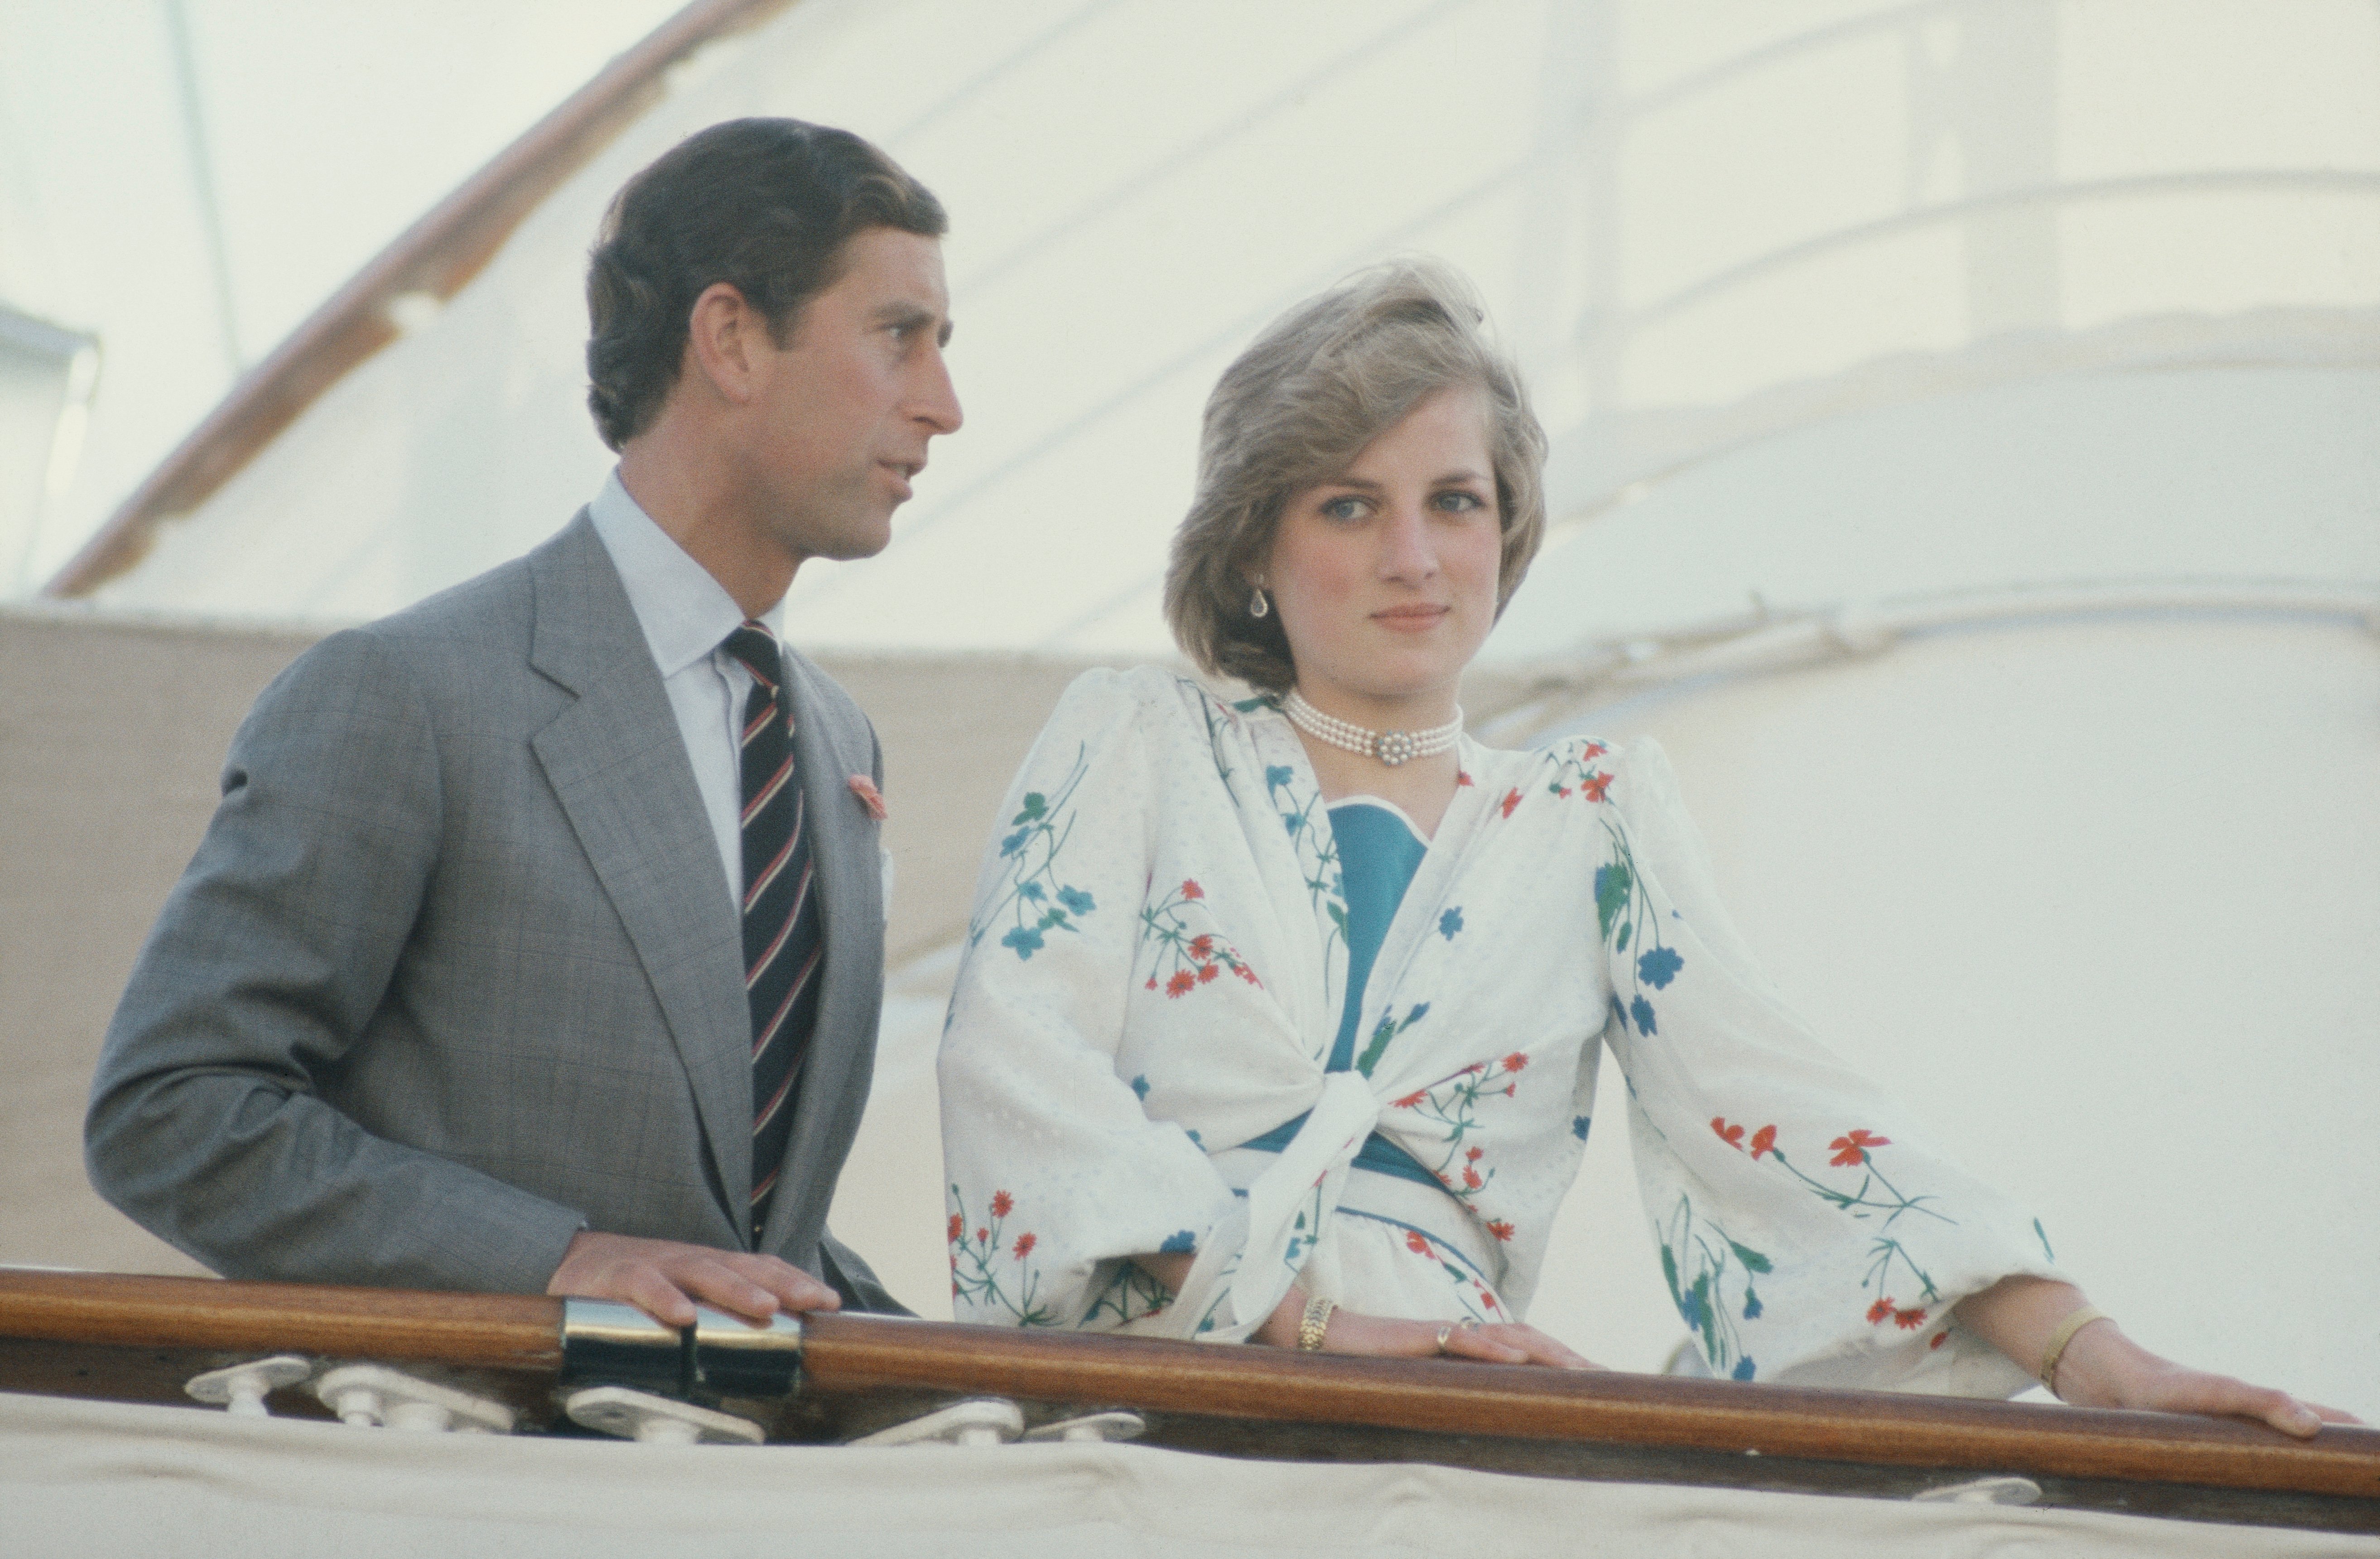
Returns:
[[[1364,726],[1445,721],[1495,626],[1502,550],[1485,402],[1440,390],[1280,514],[1261,583],[1297,688]]]

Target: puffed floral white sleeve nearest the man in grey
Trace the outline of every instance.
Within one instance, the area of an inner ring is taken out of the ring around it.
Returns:
[[[985,852],[940,1052],[962,1321],[1133,1319],[1161,1292],[1119,1257],[1192,1250],[1233,1207],[1204,1150],[1116,1076],[1161,804],[1147,726],[1169,697],[1145,676],[1078,678]]]

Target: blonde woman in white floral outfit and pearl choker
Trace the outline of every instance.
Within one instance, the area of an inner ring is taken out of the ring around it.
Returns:
[[[942,1040],[962,1321],[1585,1366],[1523,1323],[1604,1047],[1671,1297],[1735,1380],[2266,1419],[2054,1266],[1761,978],[1661,750],[1461,735],[1545,528],[1468,288],[1361,274],[1207,405],[1166,609],[985,859]],[[2328,1409],[2325,1409],[2328,1411]]]

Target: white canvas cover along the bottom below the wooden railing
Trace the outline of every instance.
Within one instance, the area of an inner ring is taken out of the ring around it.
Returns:
[[[1135,1445],[666,1447],[0,1395],[0,1549],[140,1554],[2347,1559],[2380,1538]]]

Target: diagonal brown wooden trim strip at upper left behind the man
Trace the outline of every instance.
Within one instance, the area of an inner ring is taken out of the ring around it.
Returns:
[[[671,64],[788,5],[793,0],[690,0],[612,60],[290,331],[40,593],[52,600],[90,595],[138,564],[159,524],[207,502],[350,369],[397,338],[388,317],[393,300],[428,293],[443,302],[459,293],[555,186],[662,98]]]

